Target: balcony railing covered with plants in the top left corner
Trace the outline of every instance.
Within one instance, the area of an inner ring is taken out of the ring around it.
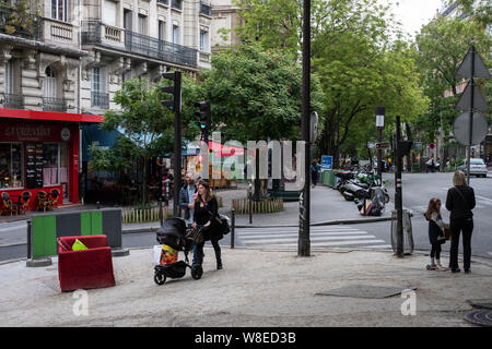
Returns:
[[[0,5],[0,33],[26,39],[42,38],[42,20],[34,14],[19,14],[15,9]]]

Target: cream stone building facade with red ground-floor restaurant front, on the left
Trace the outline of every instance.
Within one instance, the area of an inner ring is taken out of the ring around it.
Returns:
[[[122,82],[210,68],[206,1],[3,1],[0,192],[57,189],[59,204],[78,203],[82,128],[118,109]]]

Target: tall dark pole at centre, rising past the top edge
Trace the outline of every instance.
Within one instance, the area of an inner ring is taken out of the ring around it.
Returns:
[[[304,189],[300,201],[300,231],[297,255],[311,255],[309,224],[311,224],[311,0],[304,0],[303,15],[303,86],[302,86],[302,140],[304,148]]]

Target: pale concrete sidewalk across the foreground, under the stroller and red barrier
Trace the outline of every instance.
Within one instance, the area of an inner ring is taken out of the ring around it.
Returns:
[[[1,325],[461,327],[475,326],[464,320],[472,310],[467,300],[491,298],[492,266],[475,258],[472,274],[465,275],[427,272],[427,257],[418,254],[405,258],[356,250],[313,254],[297,257],[295,252],[224,248],[224,269],[215,270],[213,250],[206,248],[200,280],[194,280],[188,269],[184,278],[157,286],[152,249],[131,250],[129,256],[113,258],[116,287],[89,290],[89,315],[80,316],[73,312],[79,296],[60,291],[56,257],[49,267],[9,263],[0,265]],[[415,289],[415,293],[319,296],[348,286]],[[402,309],[410,314],[403,315]]]

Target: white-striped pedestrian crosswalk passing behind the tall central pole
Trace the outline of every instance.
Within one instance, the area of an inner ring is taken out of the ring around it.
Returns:
[[[236,240],[242,246],[296,249],[297,227],[237,228]],[[323,248],[364,248],[390,249],[385,240],[348,226],[311,227],[312,249]]]

